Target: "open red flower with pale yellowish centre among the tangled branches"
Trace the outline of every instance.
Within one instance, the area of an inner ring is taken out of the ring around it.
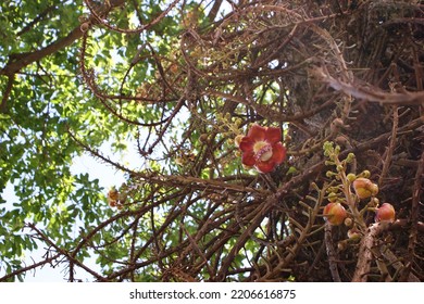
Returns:
[[[286,149],[280,140],[279,128],[254,124],[239,143],[241,163],[248,167],[254,166],[261,173],[272,172],[286,157]]]

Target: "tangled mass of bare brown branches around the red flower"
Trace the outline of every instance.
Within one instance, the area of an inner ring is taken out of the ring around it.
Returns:
[[[148,26],[124,29],[85,2],[97,21],[83,37],[85,84],[99,106],[134,127],[140,159],[155,166],[128,169],[82,142],[128,179],[116,189],[116,215],[79,237],[70,263],[85,267],[76,256],[93,250],[100,281],[424,279],[420,1],[244,1],[217,21],[186,15],[167,53],[149,39],[134,50],[117,87],[95,72],[96,26],[148,33],[171,12],[183,20],[178,12],[195,9],[174,1]],[[120,16],[136,10],[125,3]],[[157,73],[139,84],[137,69]],[[270,174],[246,170],[234,147],[253,122],[284,130],[288,157]],[[344,170],[382,181],[396,229],[373,225],[359,201],[351,210],[363,210],[369,228],[359,243],[347,240],[347,227],[326,226],[322,210],[336,182],[325,174],[328,140],[340,157],[354,154]]]

